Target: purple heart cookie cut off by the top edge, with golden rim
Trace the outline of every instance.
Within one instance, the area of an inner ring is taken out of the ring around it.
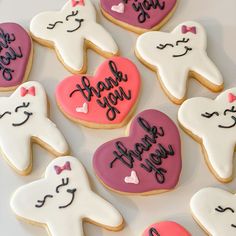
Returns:
[[[100,0],[112,22],[136,33],[159,29],[173,14],[177,0]]]

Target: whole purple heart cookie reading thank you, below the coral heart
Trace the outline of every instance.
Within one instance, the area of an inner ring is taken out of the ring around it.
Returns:
[[[132,121],[128,137],[97,149],[93,167],[102,183],[119,193],[168,191],[178,183],[182,168],[179,131],[164,113],[143,111]]]

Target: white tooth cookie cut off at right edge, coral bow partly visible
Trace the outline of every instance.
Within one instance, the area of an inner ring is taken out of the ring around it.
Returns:
[[[221,93],[215,100],[192,98],[179,109],[178,119],[184,129],[202,140],[208,164],[221,181],[233,175],[236,142],[236,88]]]

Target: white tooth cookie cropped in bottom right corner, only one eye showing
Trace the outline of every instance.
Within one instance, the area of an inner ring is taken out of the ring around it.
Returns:
[[[220,188],[204,188],[192,197],[190,206],[194,219],[207,234],[235,236],[235,194]]]

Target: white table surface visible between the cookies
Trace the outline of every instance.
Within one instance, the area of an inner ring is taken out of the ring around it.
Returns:
[[[59,10],[65,0],[0,0],[0,22],[18,22],[29,27],[31,18],[45,10]],[[98,9],[98,0],[94,0]],[[172,19],[162,28],[170,31],[186,20],[196,20],[203,24],[208,32],[208,54],[221,70],[225,78],[225,88],[236,86],[236,1],[235,0],[179,0],[179,6]],[[99,11],[98,11],[99,12]],[[122,56],[133,60],[138,66],[143,81],[143,90],[136,114],[147,108],[165,112],[176,121],[178,106],[172,104],[164,95],[157,82],[156,75],[144,67],[134,56],[137,35],[115,26],[101,13],[98,21],[106,27],[116,39]],[[125,40],[124,40],[125,39]],[[54,99],[54,90],[60,80],[69,75],[57,60],[53,50],[34,44],[35,56],[29,80],[40,81],[46,88],[51,104],[51,119],[60,127],[67,138],[72,154],[86,166],[92,188],[109,200],[123,214],[126,226],[123,231],[114,233],[91,224],[85,224],[87,236],[140,236],[151,223],[173,220],[186,227],[192,235],[201,236],[204,232],[191,217],[189,200],[191,196],[206,186],[218,186],[235,191],[236,180],[230,184],[219,183],[208,170],[200,145],[189,136],[181,133],[183,170],[177,188],[171,192],[148,197],[127,197],[105,189],[96,179],[92,169],[92,157],[97,147],[106,141],[124,135],[125,128],[116,130],[93,130],[81,127],[66,119],[58,110]],[[104,60],[95,52],[88,53],[88,73],[93,74]],[[10,93],[9,93],[10,94]],[[2,96],[8,95],[2,93]],[[191,80],[188,97],[216,94]],[[25,224],[16,219],[9,206],[9,200],[16,188],[43,175],[53,156],[35,145],[33,147],[33,172],[27,177],[15,174],[0,158],[0,235],[1,236],[46,236],[43,228]],[[236,165],[235,165],[236,166]],[[76,236],[76,235],[65,235]]]

